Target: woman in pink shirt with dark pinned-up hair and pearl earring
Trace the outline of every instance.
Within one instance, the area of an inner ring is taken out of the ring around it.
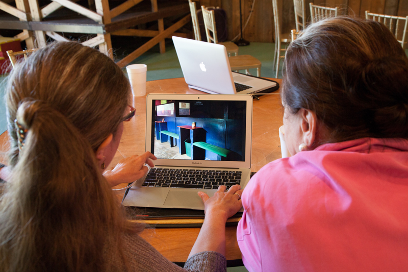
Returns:
[[[292,157],[244,190],[249,271],[408,270],[408,58],[379,22],[311,24],[286,51]]]

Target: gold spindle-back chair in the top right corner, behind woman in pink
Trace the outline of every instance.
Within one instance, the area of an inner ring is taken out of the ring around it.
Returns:
[[[408,24],[408,16],[391,16],[385,14],[371,13],[366,10],[366,19],[382,22],[386,27],[394,34],[395,38],[401,44],[402,48],[405,48],[405,36]],[[401,28],[400,26],[403,25]]]

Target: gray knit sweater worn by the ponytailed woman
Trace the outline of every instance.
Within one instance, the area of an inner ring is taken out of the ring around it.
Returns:
[[[126,258],[129,260],[128,268],[131,271],[216,271],[226,272],[226,259],[220,253],[206,251],[197,253],[189,258],[184,268],[172,263],[161,255],[153,246],[137,234],[126,234],[123,237],[123,248]],[[105,260],[110,271],[126,270],[122,258],[115,258],[105,251]]]

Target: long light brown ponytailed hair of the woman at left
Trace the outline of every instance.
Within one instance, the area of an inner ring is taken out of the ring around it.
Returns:
[[[94,151],[115,134],[129,94],[112,60],[75,42],[49,45],[15,68],[6,94],[12,178],[0,202],[0,270],[105,270],[108,245],[122,256],[121,235],[137,227],[124,219]]]

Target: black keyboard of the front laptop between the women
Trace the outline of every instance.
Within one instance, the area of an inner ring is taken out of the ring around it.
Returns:
[[[142,187],[227,189],[241,183],[242,171],[151,168]]]

